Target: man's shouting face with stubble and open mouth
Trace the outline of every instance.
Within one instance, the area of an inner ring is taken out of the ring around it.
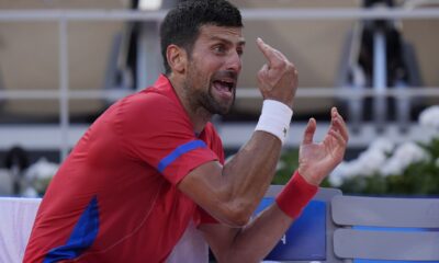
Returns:
[[[245,41],[241,28],[203,25],[194,43],[184,88],[193,107],[226,114],[235,101]]]

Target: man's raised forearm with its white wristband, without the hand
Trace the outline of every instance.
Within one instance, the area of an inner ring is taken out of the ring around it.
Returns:
[[[222,170],[227,193],[225,203],[238,208],[247,220],[272,181],[292,114],[292,110],[284,103],[263,101],[256,132]]]

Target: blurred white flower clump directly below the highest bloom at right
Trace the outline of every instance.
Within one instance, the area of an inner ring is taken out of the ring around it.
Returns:
[[[396,148],[387,162],[380,169],[383,175],[399,174],[408,165],[419,161],[428,161],[430,156],[415,142],[405,142]]]

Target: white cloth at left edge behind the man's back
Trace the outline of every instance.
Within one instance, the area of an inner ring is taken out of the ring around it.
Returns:
[[[0,197],[0,263],[20,263],[40,198]]]

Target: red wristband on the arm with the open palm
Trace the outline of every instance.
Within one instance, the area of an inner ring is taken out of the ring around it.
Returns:
[[[290,179],[282,192],[277,196],[275,203],[279,208],[291,218],[297,218],[303,208],[317,193],[318,187],[308,183],[296,171]]]

